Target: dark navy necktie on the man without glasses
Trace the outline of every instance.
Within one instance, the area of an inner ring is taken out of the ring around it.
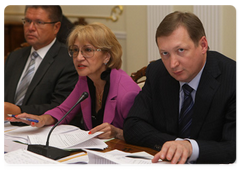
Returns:
[[[179,137],[189,138],[193,113],[193,100],[191,96],[193,89],[188,84],[184,84],[182,88],[184,92],[184,101],[179,118]]]

